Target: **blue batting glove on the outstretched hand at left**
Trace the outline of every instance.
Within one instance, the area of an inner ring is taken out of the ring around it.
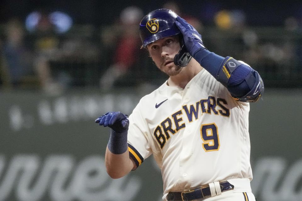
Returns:
[[[95,120],[100,126],[108,126],[118,133],[128,131],[129,119],[121,112],[107,112]]]

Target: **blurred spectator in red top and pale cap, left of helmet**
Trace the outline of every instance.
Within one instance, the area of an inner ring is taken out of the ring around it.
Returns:
[[[112,33],[121,33],[121,35],[116,40],[117,47],[113,53],[113,62],[100,79],[100,87],[103,90],[111,89],[115,81],[129,73],[129,70],[138,62],[137,56],[141,45],[138,24],[142,17],[143,11],[140,8],[130,6],[122,10],[120,20],[113,25],[119,29]],[[115,36],[109,38],[115,39]],[[108,38],[105,41],[108,44]]]

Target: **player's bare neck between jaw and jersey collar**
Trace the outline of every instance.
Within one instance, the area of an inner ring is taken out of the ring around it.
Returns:
[[[184,69],[182,69],[179,74],[170,76],[168,80],[169,86],[181,87],[184,89],[187,86],[187,83],[203,69],[193,58],[189,64],[183,68]]]

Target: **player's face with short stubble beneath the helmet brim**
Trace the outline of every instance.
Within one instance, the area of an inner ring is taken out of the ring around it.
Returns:
[[[174,64],[174,56],[179,52],[179,36],[169,36],[159,39],[147,46],[150,56],[159,70],[169,76],[177,75],[182,70]]]

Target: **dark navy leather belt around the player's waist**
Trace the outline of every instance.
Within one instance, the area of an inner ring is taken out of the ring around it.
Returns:
[[[220,182],[221,192],[233,190],[234,186],[227,181]],[[190,201],[195,199],[202,199],[211,197],[209,185],[197,187],[187,191],[170,191],[167,195],[168,201]]]

